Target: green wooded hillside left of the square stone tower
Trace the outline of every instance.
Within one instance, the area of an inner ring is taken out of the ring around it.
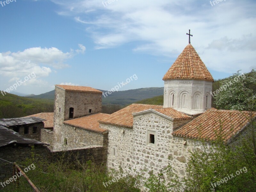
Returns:
[[[42,112],[53,112],[54,101],[20,97],[7,93],[0,95],[0,118],[14,118]]]

